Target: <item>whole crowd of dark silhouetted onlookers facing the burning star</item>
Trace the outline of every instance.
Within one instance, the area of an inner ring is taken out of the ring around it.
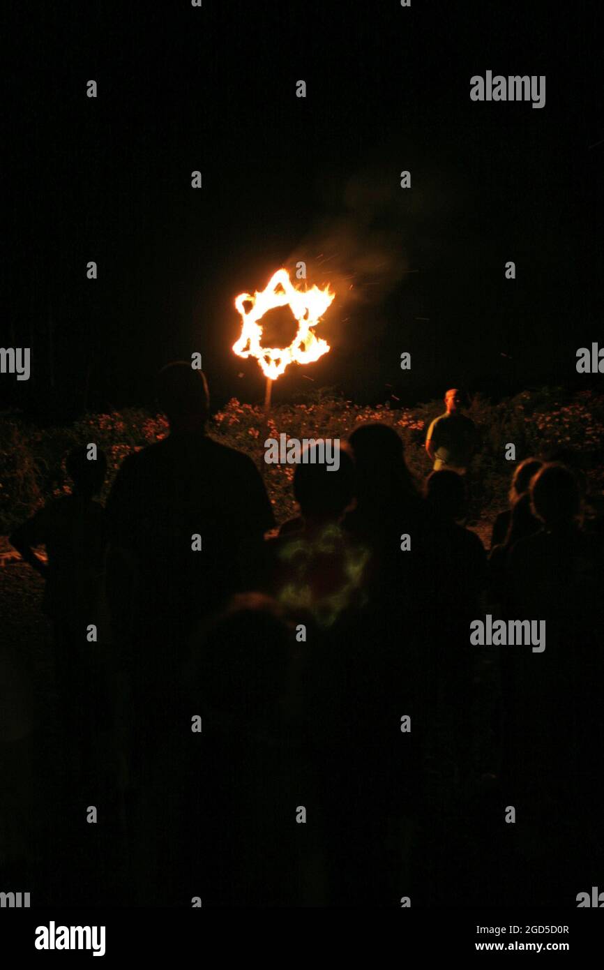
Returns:
[[[77,901],[83,866],[123,905],[570,904],[603,855],[602,534],[573,469],[519,464],[487,551],[464,477],[420,486],[366,425],[338,469],[296,467],[277,532],[254,463],[205,434],[203,375],[165,369],[159,404],[170,436],[106,508],[82,446],[11,536],[54,629],[42,831],[66,805],[82,829],[40,891]],[[546,649],[471,645],[487,613],[545,621]]]

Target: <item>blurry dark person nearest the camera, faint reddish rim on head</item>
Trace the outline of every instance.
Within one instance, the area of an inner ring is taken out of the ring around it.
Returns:
[[[181,717],[167,726],[143,803],[141,902],[320,900],[320,813],[296,696],[303,649],[259,593],[239,594],[196,633]],[[301,803],[312,825],[296,823]]]

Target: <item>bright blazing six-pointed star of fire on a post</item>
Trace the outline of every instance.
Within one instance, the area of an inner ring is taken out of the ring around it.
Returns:
[[[320,290],[297,290],[287,270],[277,270],[262,293],[254,296],[240,293],[235,306],[241,315],[241,335],[233,350],[239,357],[256,357],[263,372],[270,380],[276,380],[288,364],[310,364],[323,354],[328,353],[330,345],[326,340],[317,338],[313,328],[317,326],[326,309],[334,300],[329,286]],[[246,310],[244,304],[251,304]],[[289,306],[298,321],[298,332],[289,347],[263,347],[262,326],[258,322],[264,314],[274,307]]]

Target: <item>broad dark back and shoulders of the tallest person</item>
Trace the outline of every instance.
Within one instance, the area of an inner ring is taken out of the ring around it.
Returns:
[[[136,556],[141,608],[166,618],[201,616],[237,592],[241,549],[273,521],[251,459],[201,433],[126,459],[108,510],[112,541]]]

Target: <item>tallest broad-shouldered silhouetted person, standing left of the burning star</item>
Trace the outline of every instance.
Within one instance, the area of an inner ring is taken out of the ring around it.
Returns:
[[[241,589],[274,519],[251,458],[207,436],[205,375],[171,364],[157,398],[170,435],[125,459],[107,511],[113,630],[134,709],[160,728],[190,633]]]

